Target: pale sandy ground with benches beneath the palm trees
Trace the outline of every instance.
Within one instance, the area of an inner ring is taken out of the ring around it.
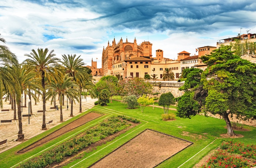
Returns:
[[[40,97],[41,98],[41,97]],[[23,106],[24,106],[24,96],[23,96]],[[27,97],[28,101],[28,97]],[[82,111],[86,111],[92,106],[94,106],[94,102],[97,101],[97,99],[91,99],[90,97],[87,97],[86,99],[82,99]],[[43,109],[42,100],[40,99],[40,102],[37,103],[37,105],[34,105],[34,100],[31,101],[32,103],[32,110],[33,115],[30,118],[30,124],[28,117],[22,118],[22,130],[23,134],[25,135],[25,140],[30,139],[34,137],[35,135],[41,134],[45,130],[42,130],[42,112],[37,113],[38,110]],[[56,105],[60,107],[59,102],[56,101]],[[71,117],[70,115],[70,107],[71,104],[68,102],[68,110],[67,110],[67,100],[65,100],[65,106],[63,106],[63,121],[67,121]],[[54,110],[50,109],[50,107],[53,107],[53,104],[50,104],[50,101],[46,102],[46,112],[45,112],[45,120],[46,123],[50,120],[53,120],[52,123],[46,124],[46,127],[48,129],[51,129],[52,127],[60,124],[60,110]],[[11,104],[9,104],[9,101],[4,102],[3,109],[10,109],[10,112],[0,112],[0,120],[9,120],[14,119],[14,110],[11,110]],[[22,108],[22,114],[29,114],[28,109],[28,102],[27,107]],[[80,114],[79,113],[79,103],[76,103],[73,105],[73,115],[76,116]],[[17,120],[13,120],[11,123],[2,123],[0,126],[0,141],[7,139],[7,144],[0,145],[0,153],[4,152],[5,150],[8,150],[22,142],[16,142],[15,140],[18,138],[18,114],[16,114]],[[8,145],[8,146],[7,146]]]

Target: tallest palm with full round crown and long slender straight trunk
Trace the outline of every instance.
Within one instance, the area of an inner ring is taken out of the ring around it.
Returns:
[[[43,123],[42,130],[46,130],[45,123],[45,79],[50,81],[50,78],[54,75],[58,75],[59,64],[57,61],[60,61],[59,58],[54,57],[54,50],[48,53],[48,49],[37,49],[37,52],[32,49],[30,54],[25,54],[27,58],[23,64],[27,65],[28,70],[34,71],[37,73],[37,77],[41,79],[41,91],[42,91],[42,100],[43,100]]]

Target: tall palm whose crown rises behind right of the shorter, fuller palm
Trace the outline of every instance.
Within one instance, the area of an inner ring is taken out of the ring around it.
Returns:
[[[60,61],[60,63],[64,65],[66,74],[72,77],[75,83],[81,80],[88,81],[87,69],[80,56],[76,58],[76,54],[68,54],[68,56],[64,54],[62,55],[62,59],[63,61]],[[73,99],[71,99],[70,117],[73,117]]]

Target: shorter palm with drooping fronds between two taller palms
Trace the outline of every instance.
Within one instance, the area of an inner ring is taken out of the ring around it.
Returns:
[[[46,92],[46,100],[49,100],[51,98],[51,104],[54,101],[54,98],[56,96],[59,96],[59,103],[60,103],[60,122],[63,122],[63,115],[62,115],[62,106],[63,106],[63,96],[68,96],[72,100],[78,99],[78,91],[74,89],[74,87],[77,87],[77,85],[72,81],[72,77],[68,77],[68,75],[64,76],[62,79],[61,77],[57,82],[54,82],[52,80],[50,85],[47,85],[45,89],[50,90]]]

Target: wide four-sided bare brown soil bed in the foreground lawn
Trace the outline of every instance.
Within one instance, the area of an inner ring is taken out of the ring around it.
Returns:
[[[155,167],[191,144],[193,142],[147,129],[90,167]]]

